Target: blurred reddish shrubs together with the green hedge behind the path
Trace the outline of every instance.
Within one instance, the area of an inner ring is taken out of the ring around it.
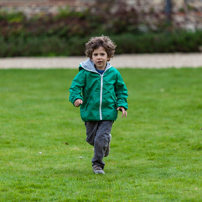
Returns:
[[[89,38],[102,34],[114,40],[118,54],[201,50],[202,31],[187,32],[168,24],[163,11],[140,13],[122,1],[114,2],[97,1],[83,11],[66,8],[57,15],[31,18],[0,11],[0,57],[84,55]]]

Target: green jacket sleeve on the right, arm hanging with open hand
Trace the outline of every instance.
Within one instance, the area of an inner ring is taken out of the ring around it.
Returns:
[[[124,107],[127,110],[128,109],[128,103],[127,103],[128,90],[119,72],[117,73],[115,91],[116,91],[116,97],[117,97],[117,107]]]

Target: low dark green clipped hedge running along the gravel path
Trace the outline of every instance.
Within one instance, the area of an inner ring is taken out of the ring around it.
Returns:
[[[195,33],[162,33],[110,36],[116,43],[116,54],[199,52],[202,47],[202,31]],[[16,56],[81,56],[89,37],[0,38],[0,57]]]

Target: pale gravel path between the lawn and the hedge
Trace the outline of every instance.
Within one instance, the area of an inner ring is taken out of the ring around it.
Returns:
[[[78,68],[87,57],[0,58],[0,69]],[[202,53],[115,55],[110,61],[116,68],[202,67]]]

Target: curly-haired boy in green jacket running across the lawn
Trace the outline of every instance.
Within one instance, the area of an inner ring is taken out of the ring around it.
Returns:
[[[109,37],[92,37],[86,43],[88,60],[80,63],[79,73],[70,87],[69,100],[80,106],[86,126],[86,141],[94,146],[93,171],[105,174],[103,157],[109,154],[111,128],[118,110],[127,117],[127,88],[117,69],[109,64],[115,52]]]

